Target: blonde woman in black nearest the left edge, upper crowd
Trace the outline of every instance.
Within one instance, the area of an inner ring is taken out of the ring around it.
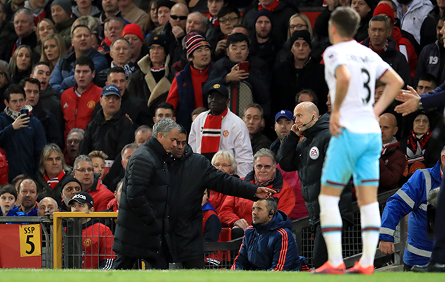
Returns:
[[[32,50],[28,45],[20,45],[9,63],[11,82],[18,84],[23,78],[29,78],[32,71]]]

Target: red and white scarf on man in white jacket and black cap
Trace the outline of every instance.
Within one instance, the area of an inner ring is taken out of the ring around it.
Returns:
[[[201,140],[201,154],[215,154],[220,149],[221,123],[227,115],[229,108],[225,108],[223,114],[212,116],[210,113],[203,127],[203,138]],[[210,156],[209,156],[210,157]],[[213,157],[213,156],[212,156]]]

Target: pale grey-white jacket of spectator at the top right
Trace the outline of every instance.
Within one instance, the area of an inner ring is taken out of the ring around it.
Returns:
[[[434,8],[433,4],[429,0],[413,0],[408,5],[405,15],[402,16],[402,4],[399,4],[397,0],[393,2],[397,5],[397,18],[401,20],[401,29],[410,32],[420,44],[420,27],[428,13]]]

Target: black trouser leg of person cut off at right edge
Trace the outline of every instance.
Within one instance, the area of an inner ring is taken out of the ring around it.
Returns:
[[[437,200],[436,219],[434,220],[434,246],[432,260],[445,264],[445,177],[440,185],[439,199]]]

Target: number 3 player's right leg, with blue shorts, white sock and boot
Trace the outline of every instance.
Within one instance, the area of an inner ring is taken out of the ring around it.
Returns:
[[[362,223],[363,250],[359,264],[349,270],[351,273],[372,274],[374,271],[374,256],[379,243],[381,224],[379,202],[377,201],[380,140],[379,134],[368,135],[369,149],[357,161],[353,174]]]

